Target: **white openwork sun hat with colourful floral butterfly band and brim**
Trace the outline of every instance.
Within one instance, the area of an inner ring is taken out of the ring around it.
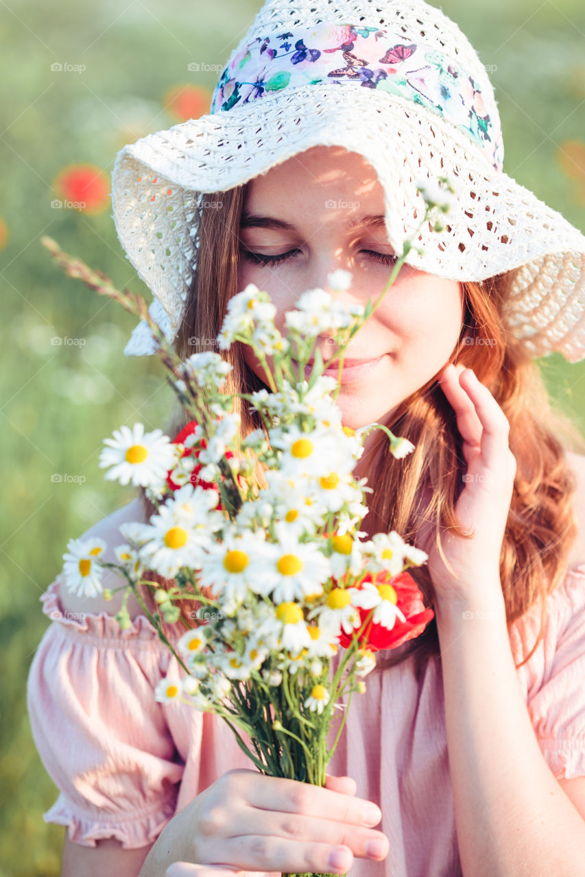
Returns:
[[[448,225],[423,228],[423,254],[411,249],[408,263],[457,281],[522,266],[506,328],[531,357],[585,358],[585,237],[503,173],[486,68],[459,27],[420,0],[268,0],[227,60],[210,113],[119,151],[112,216],[167,339],[181,324],[205,196],[318,145],[372,165],[399,253],[424,214],[417,183],[436,188],[447,176],[457,192]],[[124,353],[154,352],[141,320]]]

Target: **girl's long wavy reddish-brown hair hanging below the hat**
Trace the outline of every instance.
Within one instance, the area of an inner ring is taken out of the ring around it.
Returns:
[[[184,322],[177,336],[177,353],[216,350],[216,336],[227,310],[227,302],[238,290],[240,253],[239,222],[246,196],[246,185],[207,196],[210,207],[201,211],[198,265],[185,304]],[[530,360],[516,339],[502,324],[510,283],[515,271],[483,282],[464,282],[462,289],[466,313],[460,337],[451,359],[473,368],[501,406],[509,420],[509,446],[516,457],[517,470],[509,517],[502,544],[500,573],[508,624],[538,600],[541,624],[531,652],[517,665],[529,660],[542,639],[545,626],[545,599],[562,581],[567,557],[577,534],[572,497],[576,488],[573,471],[567,464],[560,434],[581,434],[569,417],[553,412],[538,365]],[[218,352],[216,350],[216,352]],[[247,366],[242,345],[237,342],[221,355],[233,370],[224,385],[225,392],[250,393],[264,383]],[[233,410],[241,417],[242,438],[249,431],[263,428],[256,411],[236,398]],[[167,426],[171,439],[188,417],[178,407]],[[376,485],[368,495],[369,511],[360,529],[373,533],[395,530],[407,542],[421,545],[421,524],[431,527],[437,546],[441,533],[449,528],[461,537],[455,505],[464,487],[466,462],[451,405],[433,378],[405,399],[387,424],[395,434],[415,445],[404,460],[394,460],[382,431],[372,449],[368,482]],[[258,483],[262,483],[261,473]],[[155,511],[141,490],[145,519]],[[425,497],[425,498],[423,498]],[[427,545],[428,547],[428,545]],[[433,605],[433,586],[429,570],[423,565],[409,572],[421,588],[426,605]],[[153,581],[168,586],[161,576]],[[148,595],[145,595],[148,599]],[[154,602],[150,600],[150,605]],[[182,603],[182,614],[192,617],[196,603]],[[410,643],[408,651],[384,653],[377,667],[390,667],[415,655],[421,667],[431,654],[439,652],[435,620]],[[380,656],[381,658],[382,656]]]

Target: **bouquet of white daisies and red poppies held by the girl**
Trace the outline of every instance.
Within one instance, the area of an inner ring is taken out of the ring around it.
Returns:
[[[437,203],[445,212],[449,206],[444,189],[425,200],[423,222]],[[161,430],[145,433],[140,423],[105,439],[99,460],[105,478],[145,488],[155,514],[148,524],[120,526],[127,544],[116,549],[118,564],[100,560],[105,543],[98,538],[69,540],[66,587],[96,595],[105,567],[115,568],[125,580],[120,627],[130,624],[126,603],[134,593],[184,669],[178,684],[162,679],[156,699],[217,713],[264,774],[323,786],[351,695],[365,691],[375,653],[418,636],[433,617],[408,574],[427,555],[395,531],[363,538],[365,492],[372,488],[352,475],[372,429],[386,432],[397,459],[414,446],[381,424],[344,427],[338,381],[323,374],[337,356],[341,373],[343,350],[394,282],[408,242],[374,305],[344,309],[324,289],[308,290],[285,315],[286,335],[274,324],[267,292],[249,284],[230,300],[217,344],[221,350],[236,341],[251,346],[270,386],[243,395],[263,424],[244,438],[234,400],[221,392],[232,366],[220,353],[180,360],[141,299],[114,289],[54,241],[43,243],[69,275],[148,320],[171,386],[191,417],[172,440]],[[330,289],[348,289],[351,275],[336,271],[328,282]],[[315,342],[332,329],[338,349],[324,363]],[[144,577],[147,571],[173,586],[160,588]],[[153,589],[157,612],[148,610],[139,584]],[[193,624],[180,612],[185,599],[201,607]],[[162,618],[184,625],[177,650]],[[347,704],[339,702],[343,695]],[[328,748],[335,709],[343,719]]]

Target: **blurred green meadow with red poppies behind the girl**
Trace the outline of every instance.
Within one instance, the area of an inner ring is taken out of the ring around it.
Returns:
[[[134,496],[98,469],[102,439],[137,420],[154,429],[172,402],[157,360],[122,353],[134,317],[66,278],[40,245],[48,234],[119,287],[150,298],[119,246],[110,204],[95,215],[54,208],[54,179],[71,163],[90,162],[109,181],[124,143],[176,124],[164,108],[169,89],[197,84],[211,94],[217,74],[190,72],[188,64],[222,65],[260,5],[0,4],[0,218],[7,233],[0,250],[0,877],[61,873],[64,829],[41,816],[57,789],[25,709],[28,669],[48,624],[40,594],[61,568],[68,539]],[[442,8],[492,65],[504,170],[585,230],[581,0],[445,0]],[[85,70],[54,71],[55,62]],[[84,344],[55,345],[55,337]],[[555,404],[585,430],[585,364],[553,354],[541,366]]]

